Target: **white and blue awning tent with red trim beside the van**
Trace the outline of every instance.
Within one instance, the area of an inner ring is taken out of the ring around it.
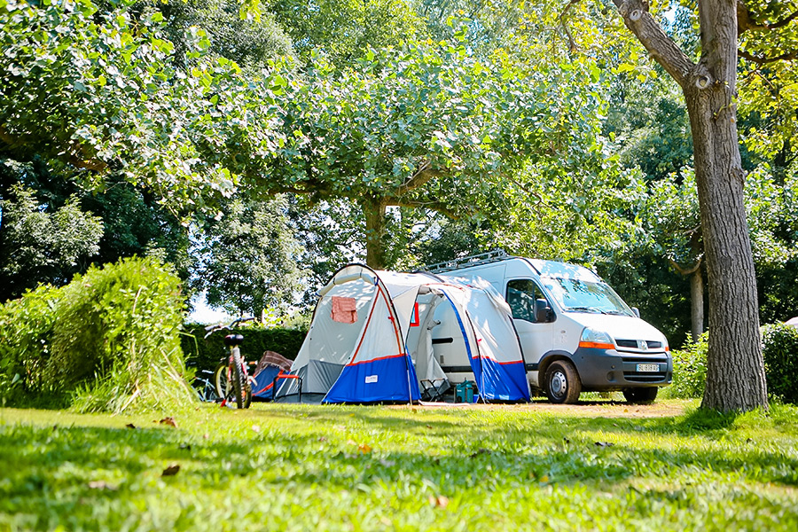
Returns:
[[[473,367],[483,398],[528,400],[525,374],[516,381],[515,372],[497,369],[516,364],[523,371],[523,356],[509,309],[499,309],[484,288],[361,264],[342,268],[319,291],[291,373],[301,377],[303,396],[321,395],[324,403],[418,401],[419,379],[446,378],[434,347],[441,319],[456,332],[447,352]],[[278,395],[297,387],[286,380]]]

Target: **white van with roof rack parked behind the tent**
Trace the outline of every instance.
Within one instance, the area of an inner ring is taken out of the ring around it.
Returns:
[[[614,390],[631,403],[650,403],[659,387],[672,380],[668,340],[591,270],[504,252],[442,262],[427,270],[441,278],[481,278],[504,295],[529,385],[553,403],[575,403],[581,392]],[[447,334],[434,330],[435,336]],[[446,339],[433,343],[450,379],[465,379],[468,368],[462,361],[448,364]]]

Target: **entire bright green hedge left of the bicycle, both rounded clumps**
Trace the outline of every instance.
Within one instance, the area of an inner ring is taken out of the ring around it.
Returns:
[[[0,394],[71,395],[77,411],[191,403],[178,336],[183,310],[179,278],[152,257],[28,292],[0,309]]]

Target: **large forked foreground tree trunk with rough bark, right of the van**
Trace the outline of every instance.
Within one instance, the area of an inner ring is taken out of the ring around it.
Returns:
[[[701,59],[693,64],[647,3],[614,0],[626,26],[682,87],[692,127],[708,274],[707,387],[701,406],[767,408],[751,243],[737,137],[736,0],[700,0]]]

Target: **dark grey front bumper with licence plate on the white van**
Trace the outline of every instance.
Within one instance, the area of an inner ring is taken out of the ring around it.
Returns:
[[[585,391],[660,387],[673,380],[673,358],[667,351],[632,353],[577,348],[573,360]]]

